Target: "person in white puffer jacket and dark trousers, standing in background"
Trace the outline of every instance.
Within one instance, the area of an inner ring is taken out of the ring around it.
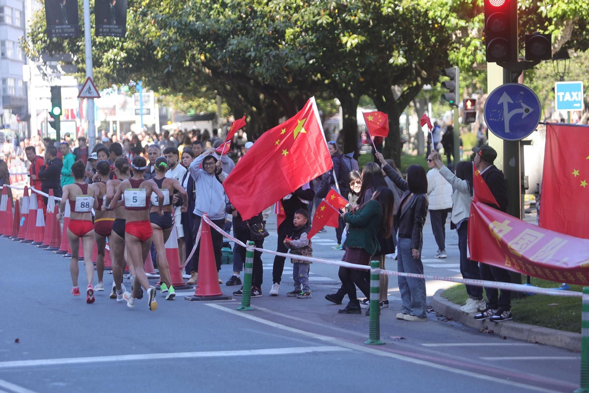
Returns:
[[[439,152],[434,151],[432,154],[442,159]],[[432,222],[432,232],[438,243],[438,252],[435,257],[446,258],[446,218],[452,209],[452,185],[440,175],[439,169],[431,158],[428,158],[428,166],[432,168],[428,171],[429,217]]]

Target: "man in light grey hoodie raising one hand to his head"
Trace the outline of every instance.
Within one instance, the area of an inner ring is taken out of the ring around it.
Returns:
[[[200,168],[202,163],[202,168]],[[215,153],[214,148],[210,148],[194,159],[190,164],[190,175],[194,179],[194,188],[196,189],[196,201],[194,203],[194,227],[193,237],[196,242],[196,235],[203,214],[209,214],[209,218],[219,228],[223,228],[225,223],[225,206],[229,202],[225,189],[221,182],[227,177],[227,173],[221,169],[221,162]],[[217,271],[221,270],[221,247],[223,247],[223,235],[216,230],[211,230],[213,238],[213,250]],[[190,274],[188,284],[194,285],[197,281],[198,274],[198,254],[200,253],[200,242],[190,263],[186,266],[186,274]],[[222,281],[221,281],[222,282]]]

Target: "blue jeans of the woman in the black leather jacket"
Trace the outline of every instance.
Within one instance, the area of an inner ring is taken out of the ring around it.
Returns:
[[[398,244],[397,271],[423,274],[421,257],[413,259],[411,239],[399,237]],[[403,312],[425,318],[425,280],[402,276],[399,276],[398,279],[399,291],[401,292],[401,300],[403,302]]]

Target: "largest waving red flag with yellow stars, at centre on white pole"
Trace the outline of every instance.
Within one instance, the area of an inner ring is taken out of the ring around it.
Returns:
[[[248,220],[332,166],[312,97],[299,113],[264,132],[223,186],[243,220]]]

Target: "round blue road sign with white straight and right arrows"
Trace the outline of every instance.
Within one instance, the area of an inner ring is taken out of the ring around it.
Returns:
[[[524,139],[538,127],[541,115],[538,96],[523,84],[502,84],[485,101],[485,123],[501,139]]]

